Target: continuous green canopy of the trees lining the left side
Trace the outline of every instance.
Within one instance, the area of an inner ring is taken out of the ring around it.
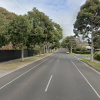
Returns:
[[[62,28],[36,8],[24,16],[17,16],[0,8],[0,37],[0,46],[9,40],[15,48],[19,48],[22,43],[27,49],[33,49],[35,45],[43,47],[47,43],[58,47]]]

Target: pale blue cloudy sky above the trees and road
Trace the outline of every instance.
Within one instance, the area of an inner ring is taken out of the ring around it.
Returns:
[[[63,29],[63,38],[74,35],[73,24],[86,0],[0,0],[0,7],[18,15],[27,14],[34,7],[44,12]]]

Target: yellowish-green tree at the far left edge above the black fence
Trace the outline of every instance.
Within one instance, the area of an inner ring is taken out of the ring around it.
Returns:
[[[0,7],[0,47],[7,45],[8,36],[6,35],[6,25],[15,17],[14,13],[8,12]]]

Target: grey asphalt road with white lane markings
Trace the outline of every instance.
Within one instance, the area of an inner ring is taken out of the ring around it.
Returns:
[[[100,100],[100,73],[61,49],[0,78],[0,100]]]

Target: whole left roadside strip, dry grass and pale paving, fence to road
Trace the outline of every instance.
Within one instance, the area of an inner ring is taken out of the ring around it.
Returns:
[[[21,59],[15,59],[15,60],[10,60],[6,62],[0,63],[0,78],[10,74],[16,70],[19,70],[20,68],[23,68],[35,61],[38,61],[40,59],[43,59],[47,56],[52,55],[53,53],[48,53],[48,54],[42,54],[42,55],[36,55],[32,57],[26,57],[24,58],[24,62],[21,62]]]

